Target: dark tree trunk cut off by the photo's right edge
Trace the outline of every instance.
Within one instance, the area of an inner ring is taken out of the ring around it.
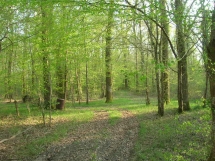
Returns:
[[[215,2],[214,2],[215,4]],[[212,15],[212,26],[210,42],[208,44],[208,65],[209,65],[209,82],[210,82],[210,95],[211,95],[211,142],[212,148],[208,161],[215,161],[215,7]]]

